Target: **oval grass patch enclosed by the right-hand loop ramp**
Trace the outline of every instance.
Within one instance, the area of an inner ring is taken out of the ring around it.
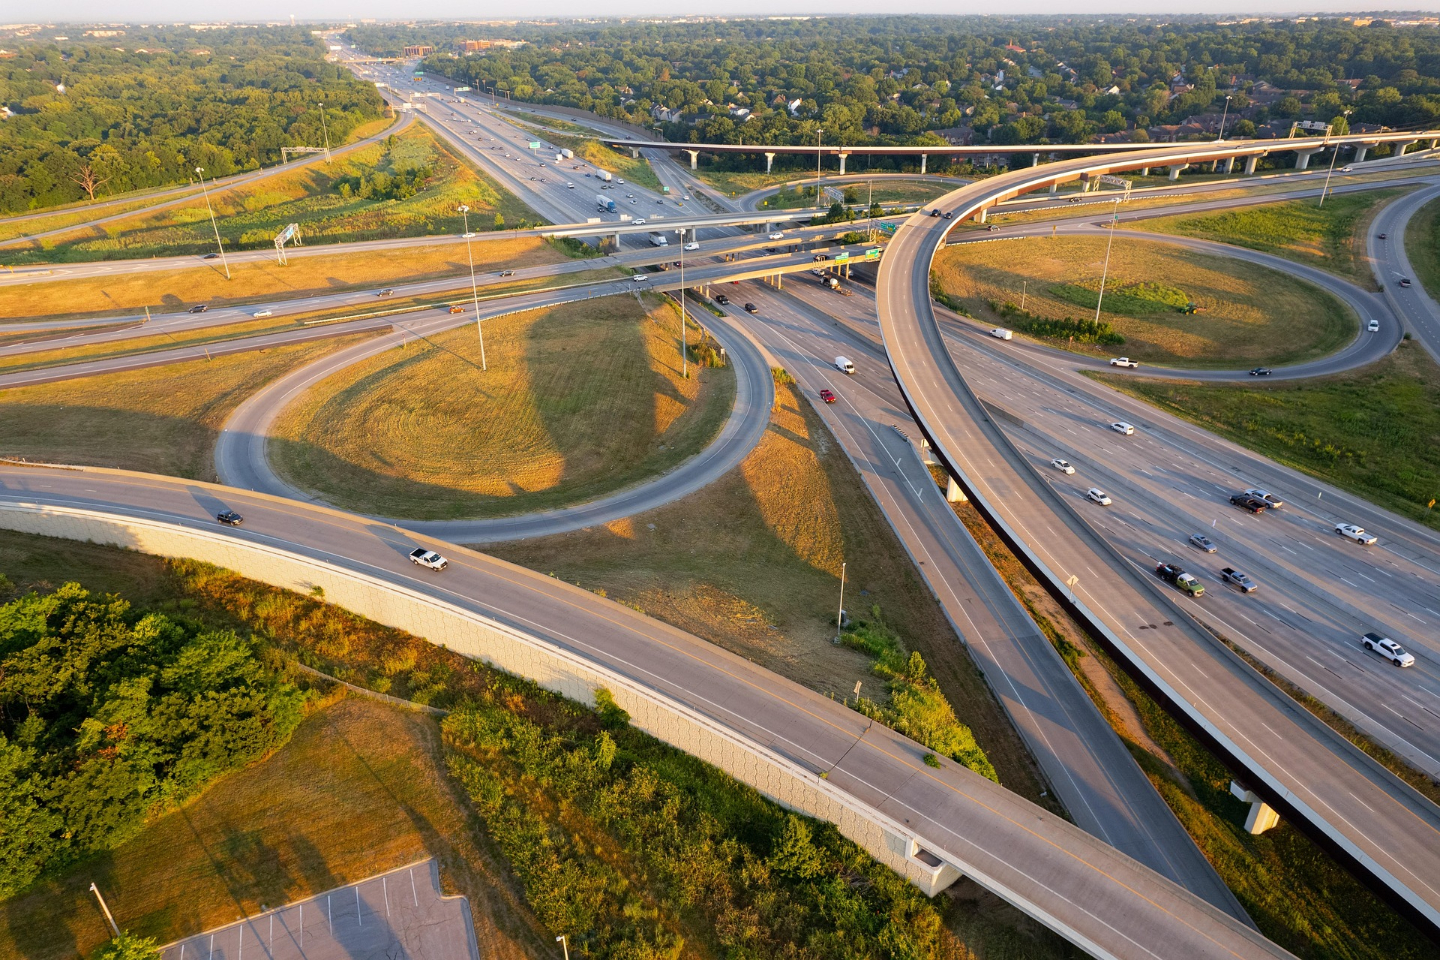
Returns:
[[[1090,321],[1106,237],[1027,237],[952,246],[935,261],[935,281],[971,315],[1025,330],[1002,317],[1014,304],[1035,321]],[[1181,312],[1194,302],[1204,312]],[[1117,239],[1110,255],[1102,322],[1123,344],[1050,343],[1090,356],[1129,356],[1179,367],[1300,363],[1354,337],[1358,321],[1333,296],[1263,266],[1204,256],[1165,243]],[[1037,327],[1038,328],[1038,327]]]

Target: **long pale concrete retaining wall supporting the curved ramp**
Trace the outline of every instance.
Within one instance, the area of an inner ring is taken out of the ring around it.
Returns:
[[[543,638],[418,590],[220,531],[117,514],[4,504],[0,528],[200,560],[300,593],[321,587],[330,603],[531,679],[570,699],[593,705],[595,689],[603,687],[638,730],[724,770],[786,807],[834,823],[927,895],[960,877],[955,866],[929,853],[926,848],[935,848],[912,830],[684,704]]]

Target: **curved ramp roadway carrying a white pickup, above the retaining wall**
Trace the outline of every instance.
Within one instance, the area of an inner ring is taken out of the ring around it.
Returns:
[[[79,508],[216,530],[403,584],[539,636],[762,744],[923,838],[924,848],[1096,957],[1289,956],[1110,845],[949,760],[711,643],[553,577],[448,544],[439,577],[403,530],[320,507],[143,474],[0,466],[0,510]],[[413,573],[412,573],[413,571]]]

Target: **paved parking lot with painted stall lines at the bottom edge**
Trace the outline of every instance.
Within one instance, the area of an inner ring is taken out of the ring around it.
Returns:
[[[433,859],[186,937],[161,960],[480,960],[469,902]]]

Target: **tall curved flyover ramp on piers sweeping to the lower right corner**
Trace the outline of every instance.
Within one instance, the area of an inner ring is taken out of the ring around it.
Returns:
[[[1215,150],[1224,148],[1159,148],[1145,163],[1205,158]],[[963,187],[937,206],[965,219],[995,197],[1057,177],[1139,163],[1047,164]],[[1440,925],[1440,810],[1254,674],[1188,615],[1174,590],[1115,553],[1081,520],[1074,498],[1051,486],[982,406],[949,357],[929,295],[932,258],[953,223],[912,217],[881,262],[877,291],[891,368],[937,453],[1043,581],[1061,597],[1070,581],[1077,613],[1248,770],[1247,786],[1325,835],[1414,915]]]

